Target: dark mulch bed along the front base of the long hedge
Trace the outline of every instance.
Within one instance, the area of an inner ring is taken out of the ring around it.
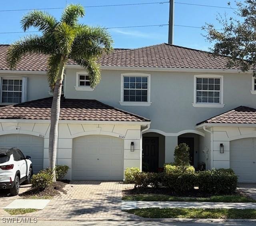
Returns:
[[[195,198],[200,198],[200,197],[210,197],[213,194],[203,194],[202,192],[199,192],[198,189],[194,189],[191,192],[186,192],[186,193],[175,193],[170,191],[168,188],[143,188],[143,189],[138,189],[138,188],[132,188],[132,189],[126,189],[122,190],[122,195],[123,196],[128,196],[128,195],[136,195],[136,194],[164,194],[164,195],[170,195],[170,196],[180,196],[180,197],[195,197]],[[234,195],[241,195],[242,192],[236,191]],[[244,194],[243,194],[244,195]]]

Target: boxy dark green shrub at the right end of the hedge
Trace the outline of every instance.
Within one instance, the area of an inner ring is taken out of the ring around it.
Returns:
[[[236,191],[237,176],[231,169],[212,169],[198,172],[197,185],[207,194],[232,194]]]

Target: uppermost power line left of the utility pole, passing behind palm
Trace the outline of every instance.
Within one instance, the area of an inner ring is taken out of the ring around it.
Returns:
[[[133,4],[116,4],[116,5],[98,5],[98,6],[84,6],[84,8],[96,8],[96,7],[112,7],[112,6],[137,6],[137,5],[149,5],[149,4],[164,4],[168,2],[144,2],[144,3],[133,3]],[[20,9],[20,10],[0,10],[0,12],[13,12],[13,11],[28,11],[28,10],[60,10],[65,7],[57,8],[36,8],[36,9]]]

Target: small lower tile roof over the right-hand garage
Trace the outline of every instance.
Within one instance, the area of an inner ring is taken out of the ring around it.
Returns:
[[[221,115],[207,119],[197,125],[202,123],[256,123],[256,109],[240,106]]]

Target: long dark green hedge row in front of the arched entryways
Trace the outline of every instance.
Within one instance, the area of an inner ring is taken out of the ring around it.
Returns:
[[[237,176],[232,169],[200,172],[188,170],[184,173],[177,169],[161,173],[136,171],[133,174],[133,183],[137,188],[164,187],[174,193],[191,192],[194,187],[198,187],[199,192],[204,194],[232,194],[236,191]]]

